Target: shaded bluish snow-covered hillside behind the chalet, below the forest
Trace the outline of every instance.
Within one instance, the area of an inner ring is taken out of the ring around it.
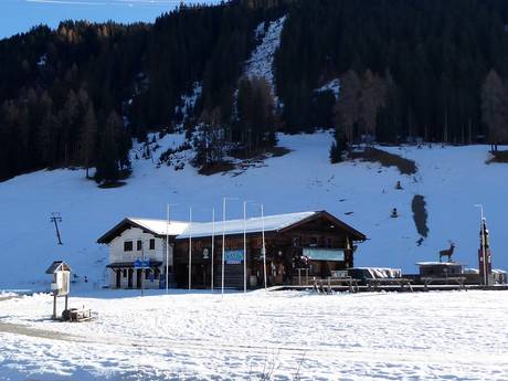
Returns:
[[[189,165],[178,171],[158,168],[160,152],[183,141],[182,135],[168,135],[158,141],[155,162],[133,160],[133,177],[121,188],[98,189],[83,170],[39,171],[0,183],[0,288],[42,287],[53,260],[68,261],[80,276],[100,284],[107,247],[95,241],[124,216],[163,219],[166,203],[172,203],[178,204],[172,207],[174,220],[186,220],[192,205],[195,220],[207,221],[212,207],[219,214],[224,195],[263,202],[267,214],[328,210],[369,237],[359,245],[356,265],[410,273],[417,261],[437,260],[448,240],[457,246],[457,261],[477,267],[479,210],[474,204],[483,203],[494,265],[508,267],[508,166],[486,165],[486,146],[383,148],[416,161],[419,172],[410,177],[370,162],[330,165],[331,140],[328,131],[279,135],[279,145],[292,150],[286,156],[205,177]],[[394,189],[399,180],[403,190]],[[414,194],[427,203],[430,233],[421,246],[411,210]],[[398,219],[390,218],[392,208]],[[52,212],[63,219],[62,246],[50,223]],[[248,213],[257,215],[258,210],[251,207]],[[227,219],[241,215],[241,201],[230,201]]]

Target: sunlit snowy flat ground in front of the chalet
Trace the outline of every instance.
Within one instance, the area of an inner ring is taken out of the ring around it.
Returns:
[[[71,305],[99,317],[51,321],[46,295],[0,301],[0,380],[508,379],[507,292],[103,292]]]

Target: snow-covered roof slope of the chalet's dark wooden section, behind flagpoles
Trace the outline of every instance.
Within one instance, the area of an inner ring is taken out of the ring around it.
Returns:
[[[263,231],[263,223],[265,232],[278,231],[284,227],[290,226],[297,222],[316,215],[318,212],[299,212],[299,213],[287,213],[287,214],[275,214],[265,215],[264,219],[261,216],[250,218],[245,220],[246,233],[258,233]],[[264,221],[263,221],[264,220]],[[227,220],[224,222],[216,221],[207,223],[192,223],[187,226],[184,232],[179,234],[177,239],[188,239],[190,235],[193,237],[202,237],[212,235],[213,231],[216,235],[225,233],[225,235],[243,234],[244,221],[242,220]]]

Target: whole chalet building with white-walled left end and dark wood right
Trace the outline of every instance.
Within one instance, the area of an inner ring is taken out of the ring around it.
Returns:
[[[214,287],[222,283],[222,239],[224,234],[224,286],[243,288],[243,247],[244,227],[246,232],[246,267],[250,288],[261,287],[263,279],[263,232],[266,247],[267,284],[298,284],[306,276],[326,277],[331,271],[353,267],[356,243],[366,240],[366,235],[340,221],[326,211],[301,212],[267,215],[243,220],[229,220],[215,223],[167,222],[160,220],[126,219],[103,235],[97,242],[110,246],[112,287],[138,287],[130,281],[134,261],[140,253],[123,255],[126,240],[137,242],[155,240],[152,274],[157,278],[165,277],[166,268],[166,231],[169,231],[170,278],[178,287],[189,286],[189,255],[191,253],[191,287],[210,288],[212,266]],[[141,240],[141,239],[139,239]],[[189,250],[191,243],[191,251]],[[150,244],[151,245],[151,244]],[[135,244],[127,244],[127,248]],[[213,250],[212,250],[213,246]],[[136,247],[139,244],[136,243]],[[147,253],[145,252],[145,255]],[[212,257],[213,254],[213,257]],[[127,277],[125,279],[125,277]],[[151,277],[154,279],[154,276]],[[148,287],[157,287],[161,283],[151,282]]]

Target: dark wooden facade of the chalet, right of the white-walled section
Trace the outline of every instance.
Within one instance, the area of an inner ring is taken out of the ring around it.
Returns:
[[[212,258],[212,240],[213,258]],[[319,212],[284,229],[265,232],[266,273],[268,286],[290,285],[301,282],[301,277],[330,276],[332,271],[353,266],[354,242],[364,241],[366,236],[327,212]],[[214,287],[222,283],[222,235],[220,227],[216,235],[192,239],[191,286],[210,288],[212,265]],[[225,251],[243,253],[243,234],[225,236]],[[264,284],[263,234],[251,232],[246,235],[247,287],[257,288]],[[309,258],[309,252],[337,253],[334,260]],[[300,268],[300,271],[298,271]],[[189,239],[174,239],[174,272],[179,287],[189,286]],[[299,274],[298,274],[299,273]],[[300,275],[300,276],[298,276]],[[243,261],[224,265],[224,287],[243,288]]]

